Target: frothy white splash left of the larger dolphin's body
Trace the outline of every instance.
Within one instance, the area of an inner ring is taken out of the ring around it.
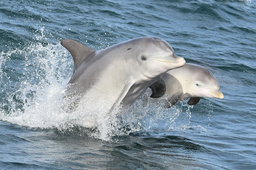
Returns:
[[[58,127],[66,119],[59,106],[70,77],[67,75],[72,72],[67,52],[60,44],[36,43],[2,52],[0,57],[0,74],[5,77],[1,86],[6,94],[5,102],[0,103],[0,119],[29,127]],[[16,64],[12,58],[21,61]],[[18,72],[13,72],[15,69]]]

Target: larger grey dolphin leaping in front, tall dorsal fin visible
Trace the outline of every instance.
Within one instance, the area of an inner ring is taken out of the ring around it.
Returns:
[[[75,40],[62,40],[74,61],[67,94],[77,96],[79,105],[102,102],[106,109],[129,107],[150,85],[163,82],[161,75],[184,66],[173,48],[156,37],[140,37],[95,51]],[[155,85],[165,91],[165,85]]]

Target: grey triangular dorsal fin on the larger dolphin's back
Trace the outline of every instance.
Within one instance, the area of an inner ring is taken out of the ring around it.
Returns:
[[[82,43],[79,43],[75,40],[69,40],[69,39],[62,40],[60,42],[60,44],[63,47],[67,48],[67,50],[72,55],[73,60],[74,60],[74,72],[77,69],[77,67],[79,66],[79,64],[81,63],[81,61],[83,61],[83,59],[86,58],[86,56],[95,52],[95,50],[93,50],[89,47],[86,47]]]

